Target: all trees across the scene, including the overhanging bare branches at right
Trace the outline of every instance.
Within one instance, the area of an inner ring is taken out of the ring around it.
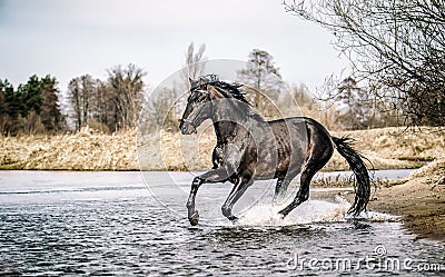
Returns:
[[[332,129],[445,126],[443,1],[291,0],[284,6],[329,30],[336,49],[349,59],[352,73],[334,80],[314,100],[304,86],[284,82],[270,53],[254,49],[235,81],[246,85],[246,97],[266,118],[296,115],[299,106],[303,115]],[[192,43],[188,47],[182,87],[204,72],[204,44],[197,51]],[[71,126],[106,132],[134,128],[146,90],[145,72],[129,65],[107,73],[106,80],[73,78],[68,111],[60,108],[55,77],[32,76],[17,88],[0,79],[1,133],[53,133]],[[162,90],[147,106],[146,120],[177,128],[184,106],[177,96],[175,89]]]

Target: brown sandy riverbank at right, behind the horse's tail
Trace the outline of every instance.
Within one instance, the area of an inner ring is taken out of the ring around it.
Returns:
[[[417,238],[445,243],[445,159],[389,185],[376,190],[369,209],[402,216],[405,227]]]

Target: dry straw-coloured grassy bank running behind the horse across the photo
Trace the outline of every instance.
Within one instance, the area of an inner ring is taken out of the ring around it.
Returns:
[[[0,137],[0,169],[139,170],[138,158],[145,170],[206,170],[211,166],[216,140],[210,128],[195,136],[171,132],[141,136],[139,147],[136,133],[131,130],[103,135],[85,128],[59,136]],[[445,157],[445,135],[434,128],[384,128],[333,135],[354,138],[354,147],[376,169],[416,168]],[[347,168],[335,154],[325,170]]]

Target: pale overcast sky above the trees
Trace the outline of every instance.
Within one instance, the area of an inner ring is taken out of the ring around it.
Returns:
[[[275,58],[288,82],[315,92],[344,59],[324,29],[285,12],[281,0],[0,0],[0,78],[14,86],[50,73],[67,90],[85,73],[135,63],[154,88],[184,65],[188,44],[209,59]]]

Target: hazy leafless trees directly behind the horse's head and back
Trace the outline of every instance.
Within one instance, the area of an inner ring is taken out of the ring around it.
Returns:
[[[185,86],[162,88],[151,97],[144,112],[148,132],[159,129],[178,131],[178,119],[185,108],[187,97],[180,97],[189,81],[205,72],[205,47],[195,52],[190,44],[186,53],[182,72]],[[398,126],[398,113],[372,97],[366,88],[359,87],[354,77],[347,77],[337,87],[334,101],[314,99],[304,85],[286,83],[275,65],[274,57],[266,50],[253,49],[243,69],[233,80],[241,83],[246,98],[263,117],[268,120],[281,117],[309,116],[330,129],[353,130]],[[181,107],[181,108],[177,108]]]

